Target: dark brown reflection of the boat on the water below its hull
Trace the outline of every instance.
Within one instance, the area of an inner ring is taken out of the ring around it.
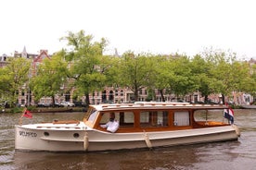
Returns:
[[[21,169],[34,169],[34,164],[38,165],[38,169],[42,167],[49,167],[49,169],[188,168],[193,167],[193,164],[198,162],[196,152],[197,148],[189,146],[128,152],[16,152],[15,166]]]

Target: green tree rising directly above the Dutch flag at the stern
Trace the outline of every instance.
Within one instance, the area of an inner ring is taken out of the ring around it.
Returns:
[[[237,61],[237,54],[223,50],[208,51],[206,60],[211,62],[212,77],[216,79],[218,91],[222,94],[222,102],[225,96],[230,96],[232,91],[239,91],[245,88],[244,82],[249,78],[249,69],[241,62]]]

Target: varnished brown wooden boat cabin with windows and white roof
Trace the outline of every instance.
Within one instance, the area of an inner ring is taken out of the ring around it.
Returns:
[[[210,121],[209,115],[222,115],[225,105],[190,103],[125,103],[91,105],[83,118],[90,128],[102,128],[115,115],[119,128],[115,133],[170,131],[190,128],[228,126],[223,121]]]

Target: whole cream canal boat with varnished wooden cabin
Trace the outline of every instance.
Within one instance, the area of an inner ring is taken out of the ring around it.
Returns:
[[[194,103],[90,105],[81,121],[16,125],[15,149],[96,152],[237,140],[237,126],[217,116],[227,109],[224,104]],[[114,126],[108,127],[109,121]]]

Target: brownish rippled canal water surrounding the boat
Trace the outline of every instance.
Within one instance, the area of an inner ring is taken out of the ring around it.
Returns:
[[[16,152],[14,125],[20,114],[0,114],[0,170],[252,170],[256,168],[256,110],[235,110],[238,141],[215,142],[152,151],[54,153]],[[82,119],[83,113],[33,114],[23,124]],[[36,143],[34,143],[36,145]]]

